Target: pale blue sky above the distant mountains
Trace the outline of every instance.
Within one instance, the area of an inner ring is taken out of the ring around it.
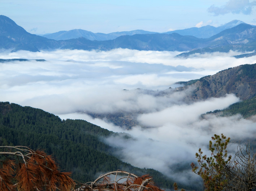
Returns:
[[[1,0],[0,14],[30,33],[84,29],[154,32],[220,26],[234,19],[256,24],[252,0]]]

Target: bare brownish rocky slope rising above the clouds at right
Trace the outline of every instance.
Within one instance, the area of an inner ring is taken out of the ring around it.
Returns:
[[[256,64],[229,68],[184,84],[185,86],[177,88],[177,91],[192,88],[193,93],[187,96],[191,101],[222,97],[226,94],[235,94],[241,100],[251,99],[256,96]]]

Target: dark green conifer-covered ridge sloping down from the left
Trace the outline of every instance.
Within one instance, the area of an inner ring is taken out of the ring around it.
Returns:
[[[160,172],[133,167],[110,155],[113,148],[101,138],[114,135],[117,133],[84,120],[61,120],[41,109],[0,102],[0,145],[43,149],[57,158],[61,169],[71,171],[77,181],[88,182],[103,172],[122,169],[150,174],[161,187],[172,187],[174,182]]]

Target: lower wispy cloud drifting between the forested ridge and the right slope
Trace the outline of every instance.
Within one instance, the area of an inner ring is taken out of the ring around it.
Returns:
[[[173,106],[173,110],[165,109],[164,112],[142,114],[140,121],[150,125],[152,128],[134,127],[130,133],[135,139],[123,140],[121,137],[110,137],[106,141],[118,148],[117,155],[125,162],[131,163],[140,168],[154,168],[174,179],[192,178],[189,168],[191,162],[196,163],[195,153],[201,148],[209,155],[208,142],[214,134],[231,137],[231,140],[253,139],[256,133],[255,122],[246,120],[240,115],[231,117],[218,117],[207,114],[204,118],[200,115],[205,111],[222,109],[225,106],[237,101],[233,95],[225,98],[211,99],[192,105],[182,105],[181,108]],[[230,143],[229,154],[234,155],[237,144]],[[185,172],[174,173],[173,168],[180,165],[187,165]],[[170,168],[168,168],[170,167]],[[181,179],[180,179],[181,180]]]

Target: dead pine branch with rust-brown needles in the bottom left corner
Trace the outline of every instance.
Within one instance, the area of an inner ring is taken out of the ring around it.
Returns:
[[[0,146],[0,190],[70,191],[75,182],[52,156],[25,146]]]

